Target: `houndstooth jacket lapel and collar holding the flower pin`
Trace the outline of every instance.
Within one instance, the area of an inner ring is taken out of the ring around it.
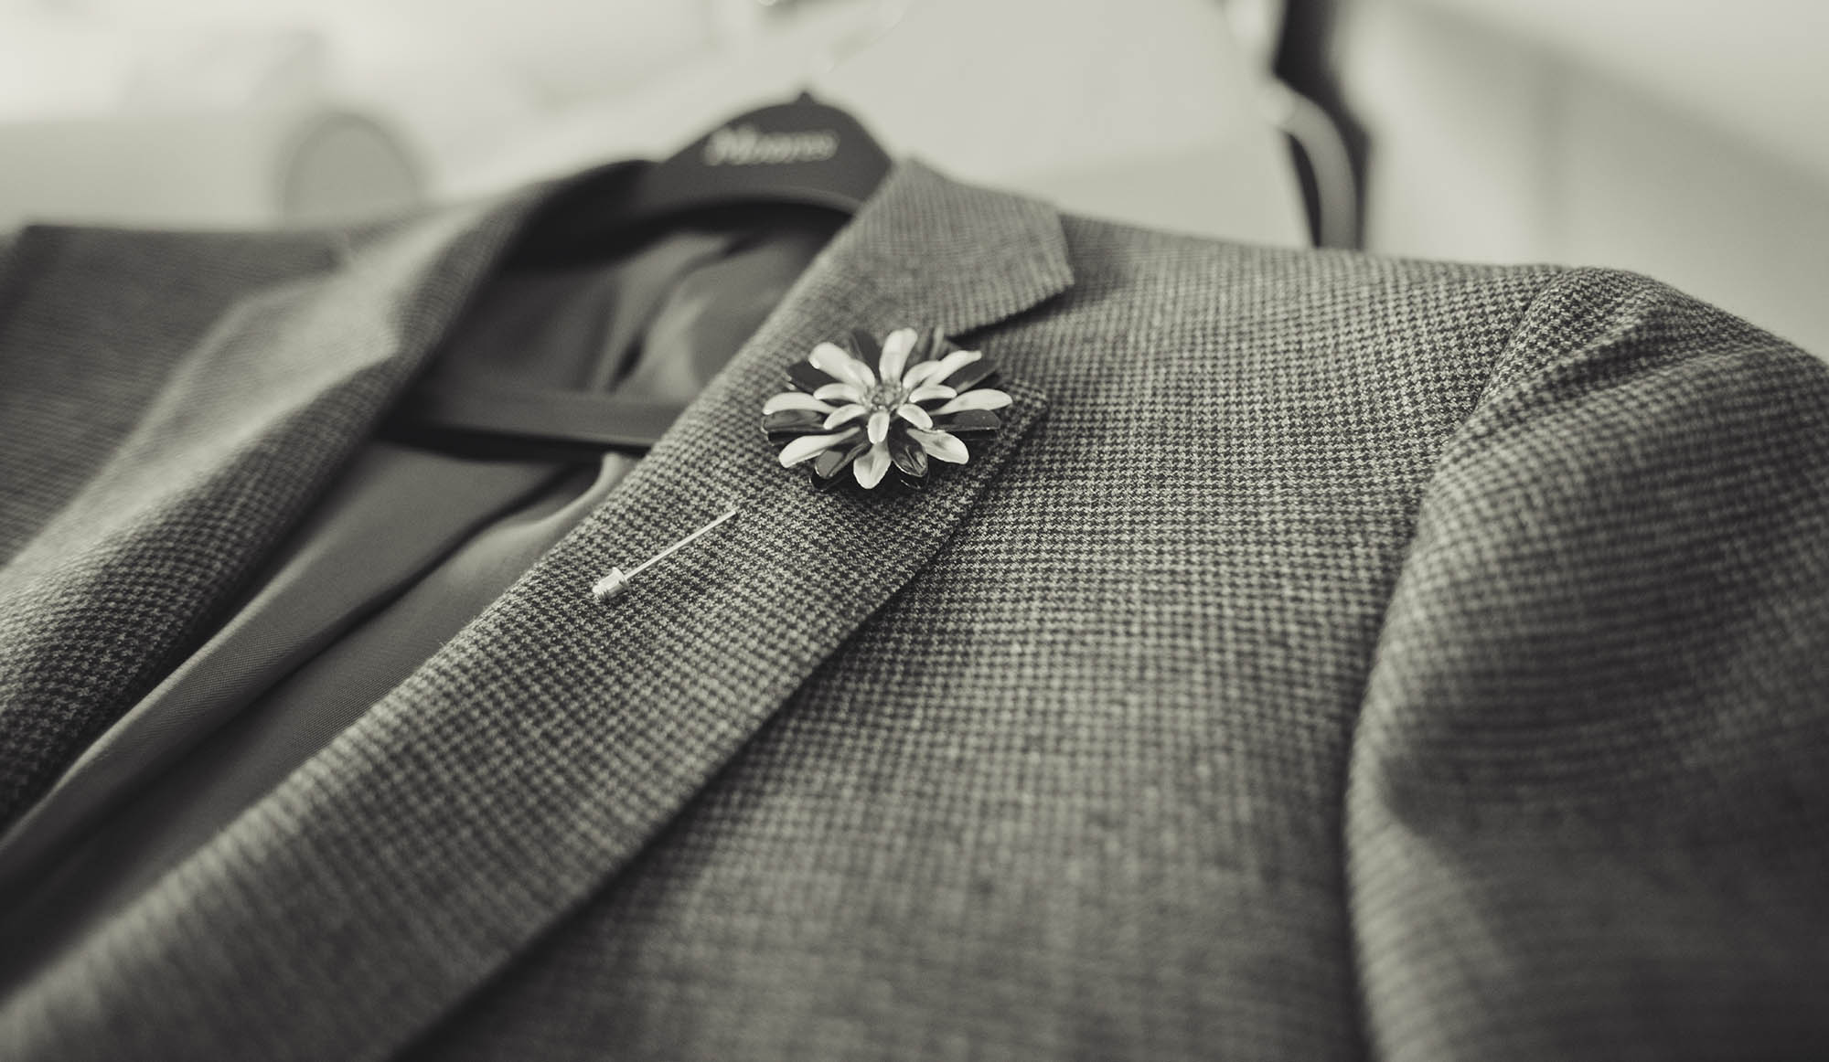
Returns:
[[[944,547],[1044,411],[1010,382],[1004,431],[920,492],[814,492],[759,430],[786,366],[852,327],[980,329],[1070,281],[1052,210],[898,168],[600,510],[0,1033],[75,1055],[368,1058],[435,1022],[655,837]]]

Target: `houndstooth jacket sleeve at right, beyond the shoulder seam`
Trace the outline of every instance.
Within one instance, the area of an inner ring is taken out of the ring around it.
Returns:
[[[1375,1057],[1829,1058],[1829,371],[1544,289],[1423,497],[1357,724]]]

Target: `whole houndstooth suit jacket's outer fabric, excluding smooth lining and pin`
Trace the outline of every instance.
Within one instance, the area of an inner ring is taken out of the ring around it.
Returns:
[[[549,194],[20,238],[9,817]],[[1006,430],[920,492],[808,490],[763,398],[898,325],[997,358]],[[1637,276],[905,165],[574,534],[15,987],[0,1053],[1824,1057],[1825,634],[1829,373],[1783,342]]]

